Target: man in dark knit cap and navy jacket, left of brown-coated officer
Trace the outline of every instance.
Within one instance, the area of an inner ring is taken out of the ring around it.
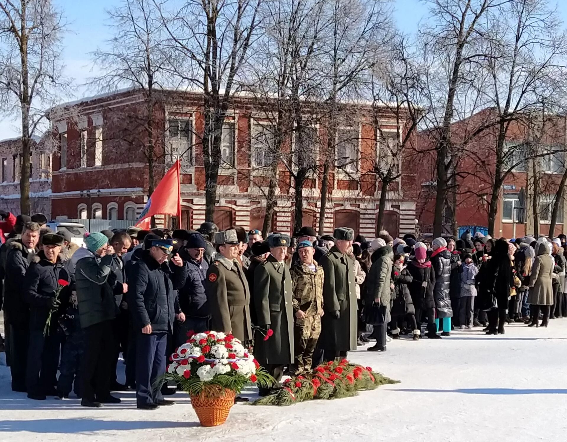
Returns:
[[[179,256],[187,264],[187,281],[179,288],[179,307],[185,314],[185,322],[176,323],[176,346],[188,339],[188,333],[202,333],[209,329],[209,303],[205,292],[205,280],[209,265],[203,259],[206,243],[201,233],[187,236],[185,247]]]

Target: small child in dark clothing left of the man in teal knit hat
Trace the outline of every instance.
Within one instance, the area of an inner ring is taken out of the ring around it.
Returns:
[[[84,332],[79,322],[79,309],[77,307],[77,294],[73,292],[69,299],[69,307],[59,321],[59,330],[67,336],[63,353],[61,355],[60,375],[57,381],[57,396],[68,398],[75,381],[75,394],[81,393],[81,359],[84,351]]]

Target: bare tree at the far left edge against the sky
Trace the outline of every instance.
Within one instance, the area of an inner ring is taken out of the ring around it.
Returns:
[[[22,167],[20,210],[29,214],[29,163],[33,134],[68,82],[62,75],[65,19],[51,0],[0,0],[0,104],[20,112]]]

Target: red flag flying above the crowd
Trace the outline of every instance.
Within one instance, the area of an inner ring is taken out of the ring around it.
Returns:
[[[181,218],[181,165],[179,160],[167,171],[150,198],[147,199],[136,227],[149,230],[153,215],[174,215]]]

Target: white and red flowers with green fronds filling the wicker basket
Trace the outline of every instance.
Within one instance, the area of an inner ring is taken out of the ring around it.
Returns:
[[[190,394],[208,386],[221,386],[240,393],[252,383],[270,386],[273,378],[232,335],[204,332],[190,339],[170,356],[164,380],[172,380]]]

